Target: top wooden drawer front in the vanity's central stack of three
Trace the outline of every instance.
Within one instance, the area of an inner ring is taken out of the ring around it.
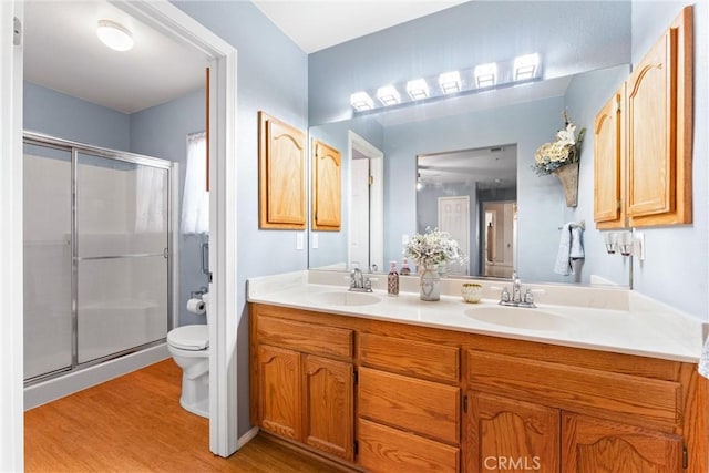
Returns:
[[[458,382],[460,349],[394,337],[362,333],[358,343],[362,363],[400,374]]]

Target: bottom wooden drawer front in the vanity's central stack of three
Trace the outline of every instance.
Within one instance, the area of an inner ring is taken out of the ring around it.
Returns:
[[[411,433],[360,419],[360,466],[372,473],[430,473],[460,471],[460,451]]]

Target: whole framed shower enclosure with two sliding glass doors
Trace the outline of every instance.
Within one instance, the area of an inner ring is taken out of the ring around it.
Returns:
[[[162,343],[172,163],[24,135],[24,380]]]

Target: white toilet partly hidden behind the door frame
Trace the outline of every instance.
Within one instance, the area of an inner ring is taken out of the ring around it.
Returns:
[[[202,299],[207,302],[207,295]],[[208,304],[207,304],[208,311]],[[207,322],[208,322],[207,317]],[[209,418],[209,329],[207,325],[177,327],[167,332],[167,350],[182,369],[179,405]]]

